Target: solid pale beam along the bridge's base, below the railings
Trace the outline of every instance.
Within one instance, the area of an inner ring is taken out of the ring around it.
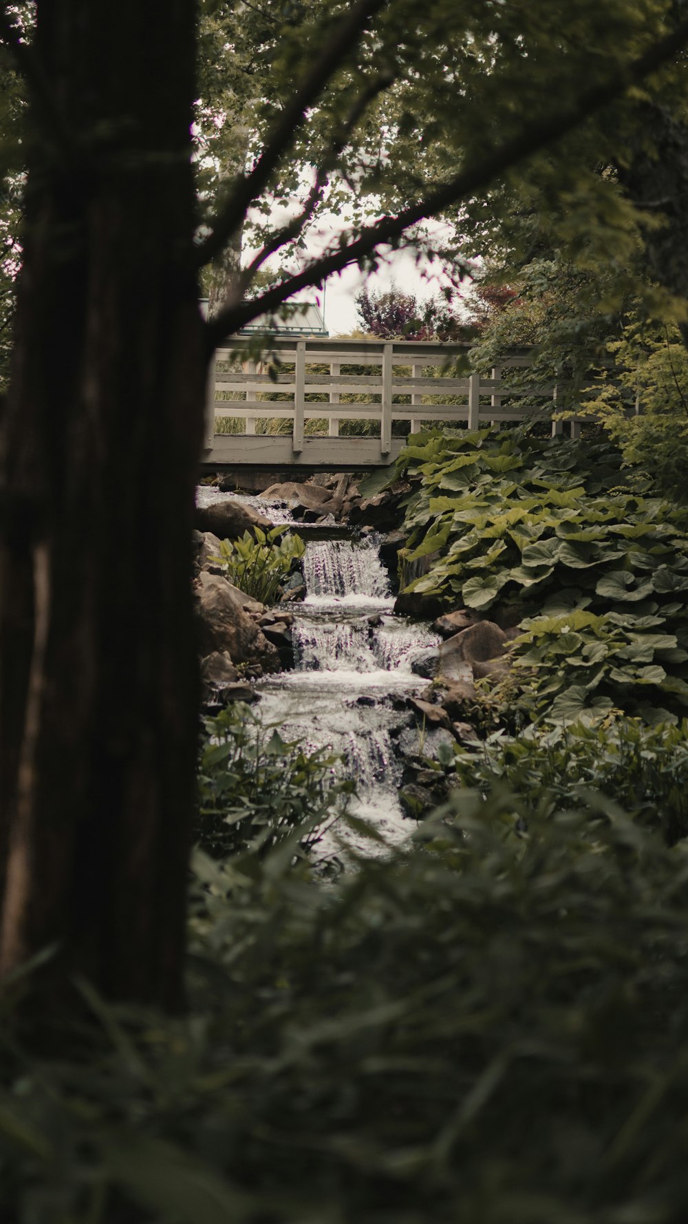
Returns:
[[[294,450],[290,435],[215,433],[213,446],[203,452],[204,469],[289,468],[291,479],[301,469],[311,471],[362,471],[387,468],[405,446],[405,438],[392,438],[388,452],[380,438],[305,437],[301,450]]]

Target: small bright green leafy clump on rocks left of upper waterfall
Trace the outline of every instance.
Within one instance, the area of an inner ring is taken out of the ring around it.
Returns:
[[[241,540],[222,540],[218,561],[230,583],[261,603],[274,603],[280,594],[280,580],[304,556],[305,543],[284,526],[253,528]]]

